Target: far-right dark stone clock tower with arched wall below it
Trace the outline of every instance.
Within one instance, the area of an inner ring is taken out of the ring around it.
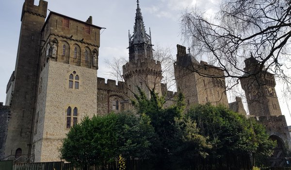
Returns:
[[[286,156],[286,150],[291,148],[291,137],[276,95],[275,77],[261,67],[252,54],[244,63],[245,73],[240,81],[245,91],[250,117],[263,124],[270,138],[276,141],[277,147],[271,162],[272,166],[278,166],[276,159]]]

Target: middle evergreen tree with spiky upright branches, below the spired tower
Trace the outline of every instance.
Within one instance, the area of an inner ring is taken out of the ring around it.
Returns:
[[[155,136],[152,140],[151,159],[157,170],[178,170],[197,156],[206,156],[206,148],[210,144],[206,138],[198,134],[195,121],[184,117],[184,97],[179,93],[176,103],[163,108],[164,100],[154,90],[150,90],[151,98],[138,88],[140,95],[132,101],[138,114],[150,118]]]

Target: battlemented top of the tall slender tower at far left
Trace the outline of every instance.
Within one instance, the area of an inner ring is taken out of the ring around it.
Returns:
[[[48,11],[48,2],[44,0],[39,0],[38,6],[34,5],[34,0],[25,0],[23,3],[21,21],[24,16],[24,13],[31,13],[40,17],[47,17]]]

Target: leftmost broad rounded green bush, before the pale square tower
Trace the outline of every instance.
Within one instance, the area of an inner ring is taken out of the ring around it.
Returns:
[[[116,159],[146,157],[153,128],[146,116],[130,112],[85,117],[74,125],[60,149],[61,158],[77,166],[101,165]]]

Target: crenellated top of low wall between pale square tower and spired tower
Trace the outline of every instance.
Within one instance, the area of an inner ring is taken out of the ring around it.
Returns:
[[[116,85],[115,80],[107,79],[107,83],[106,83],[105,78],[101,78],[101,77],[97,77],[97,87],[99,89],[113,90],[113,91],[122,91],[125,88],[124,82],[118,81]]]

